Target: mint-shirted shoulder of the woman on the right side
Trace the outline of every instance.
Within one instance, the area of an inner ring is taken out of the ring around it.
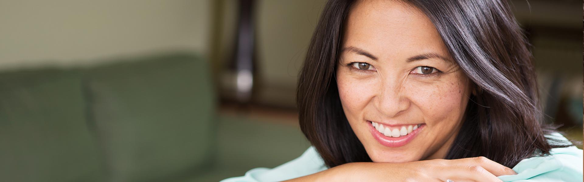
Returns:
[[[554,148],[550,154],[524,159],[513,167],[516,175],[499,178],[503,181],[582,181],[582,149]]]

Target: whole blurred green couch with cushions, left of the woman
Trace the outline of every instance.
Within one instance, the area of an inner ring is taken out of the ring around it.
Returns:
[[[196,55],[107,62],[0,73],[0,181],[218,181],[309,146],[293,125],[217,113]]]

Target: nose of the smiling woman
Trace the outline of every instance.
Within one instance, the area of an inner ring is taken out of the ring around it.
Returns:
[[[410,101],[406,97],[408,90],[404,85],[403,81],[391,79],[385,79],[379,84],[374,106],[385,117],[395,117],[408,110]]]

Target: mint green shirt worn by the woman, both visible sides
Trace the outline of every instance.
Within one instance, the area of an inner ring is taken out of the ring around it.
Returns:
[[[558,138],[564,138],[554,134]],[[515,175],[499,176],[503,181],[582,181],[582,149],[576,146],[551,149],[550,156],[530,157],[519,162],[513,170]],[[221,182],[284,181],[307,176],[328,169],[314,147],[308,148],[300,157],[280,166],[268,169],[259,167],[249,170],[245,176],[232,177]]]

